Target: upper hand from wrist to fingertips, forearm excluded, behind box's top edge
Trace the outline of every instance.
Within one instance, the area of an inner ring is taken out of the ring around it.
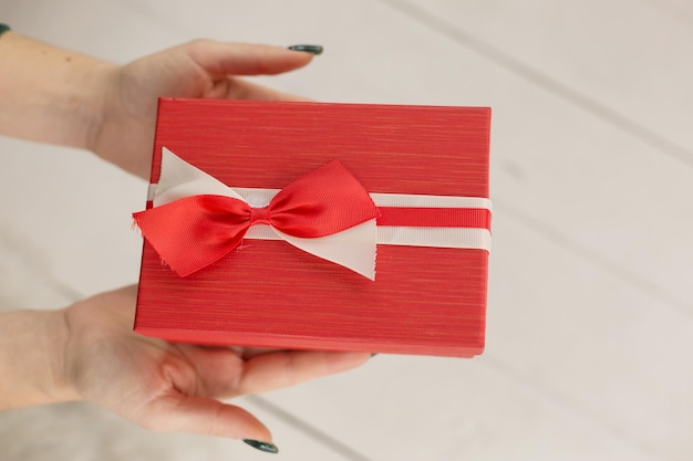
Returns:
[[[105,72],[102,117],[91,150],[145,179],[159,96],[297,101],[297,96],[235,75],[279,74],[302,67],[312,54],[282,48],[197,40]]]

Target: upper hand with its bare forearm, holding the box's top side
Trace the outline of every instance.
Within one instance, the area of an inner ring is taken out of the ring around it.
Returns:
[[[89,149],[148,178],[158,97],[301,99],[238,77],[292,71],[319,52],[299,49],[196,40],[117,66],[6,32],[0,134]]]

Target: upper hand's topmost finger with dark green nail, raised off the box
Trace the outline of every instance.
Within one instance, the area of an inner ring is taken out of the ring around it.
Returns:
[[[224,75],[272,75],[307,65],[310,53],[249,43],[196,40],[182,50],[213,78]]]

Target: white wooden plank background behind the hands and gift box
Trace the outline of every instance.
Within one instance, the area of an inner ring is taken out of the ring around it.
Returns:
[[[494,108],[486,354],[377,356],[246,399],[280,459],[673,461],[693,457],[692,4],[0,0],[0,21],[120,63],[195,38],[320,43],[309,67],[258,81]],[[142,180],[8,138],[0,160],[2,308],[136,281]],[[0,413],[0,460],[266,457],[86,404]]]

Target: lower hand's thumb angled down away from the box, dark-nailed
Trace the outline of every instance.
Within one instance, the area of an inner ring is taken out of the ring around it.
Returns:
[[[144,407],[135,422],[155,431],[272,441],[269,429],[242,408],[214,399],[186,397],[175,390]]]

